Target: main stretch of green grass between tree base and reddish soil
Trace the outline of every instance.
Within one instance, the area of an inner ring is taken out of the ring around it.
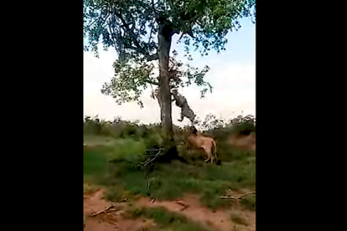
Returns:
[[[84,178],[92,178],[108,188],[107,198],[117,201],[126,193],[127,197],[142,194],[160,200],[172,200],[184,193],[201,195],[201,202],[211,209],[229,207],[232,200],[218,198],[229,188],[255,190],[254,153],[231,153],[232,162],[210,165],[199,160],[196,165],[177,161],[171,164],[157,164],[150,173],[150,188],[144,172],[136,168],[143,159],[145,141],[131,138],[112,139],[112,145],[84,150]],[[219,149],[222,156],[229,149]],[[114,160],[109,163],[109,160]],[[246,208],[255,210],[255,196],[246,196],[241,201]]]

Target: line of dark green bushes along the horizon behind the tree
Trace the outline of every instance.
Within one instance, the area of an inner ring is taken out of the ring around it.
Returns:
[[[217,144],[217,153],[222,162],[239,160],[244,158],[244,156],[250,155],[248,151],[241,151],[231,147],[229,139],[233,134],[247,135],[252,131],[255,131],[256,125],[254,116],[237,116],[230,119],[229,122],[226,122],[223,119],[218,119],[216,118],[216,116],[209,114],[206,116],[205,121],[203,123],[200,123],[199,126],[205,129],[203,130],[204,134],[211,135],[215,138]],[[185,150],[185,147],[182,146],[181,143],[185,141],[185,137],[188,134],[189,128],[190,126],[179,127],[173,125],[174,139],[177,143],[178,155],[185,156],[187,157],[187,161],[194,163],[195,160],[200,160],[202,155],[204,154],[194,152],[197,154],[196,156],[186,155],[187,152]],[[132,141],[138,141],[142,143],[140,145],[142,151],[139,151],[142,154],[143,152],[146,153],[146,151],[143,151],[146,148],[158,149],[159,147],[164,146],[164,139],[161,134],[160,124],[139,124],[138,121],[130,122],[122,120],[119,116],[116,117],[114,121],[100,120],[98,116],[95,116],[93,118],[86,116],[83,124],[83,132],[84,134],[94,134],[116,139],[121,138],[123,141],[120,141],[120,144],[117,145],[120,145],[120,147],[124,150],[126,150],[127,147],[139,145],[136,142],[132,143]],[[129,141],[129,139],[131,139],[132,141]],[[125,143],[122,144],[122,142]],[[132,150],[132,148],[130,148],[129,150]],[[130,161],[129,158],[137,159],[137,157],[130,155],[129,152],[125,151],[122,154],[123,156],[129,155],[127,161]],[[134,159],[132,159],[132,161],[134,161]]]

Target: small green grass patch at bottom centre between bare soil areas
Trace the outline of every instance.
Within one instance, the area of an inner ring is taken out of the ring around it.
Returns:
[[[208,231],[195,222],[189,221],[185,216],[170,212],[163,207],[142,207],[128,211],[131,218],[145,217],[153,219],[161,231]]]

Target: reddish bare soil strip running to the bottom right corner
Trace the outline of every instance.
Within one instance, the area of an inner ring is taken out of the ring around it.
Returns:
[[[239,216],[244,218],[247,222],[247,226],[235,224],[231,221],[230,211],[217,210],[211,211],[207,207],[203,206],[199,202],[197,195],[186,195],[180,200],[176,201],[158,201],[154,202],[148,198],[141,198],[137,201],[140,206],[163,206],[169,211],[178,212],[185,215],[200,224],[204,224],[208,228],[220,231],[241,230],[255,231],[255,212],[247,211],[241,208],[241,206],[233,206],[232,210],[237,211]]]

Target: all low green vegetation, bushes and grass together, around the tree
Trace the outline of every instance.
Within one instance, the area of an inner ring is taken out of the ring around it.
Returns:
[[[254,191],[256,158],[253,151],[231,147],[228,137],[255,131],[255,119],[238,116],[231,122],[224,122],[209,116],[200,127],[205,129],[205,134],[215,137],[217,153],[222,161],[220,166],[204,163],[203,153],[199,151],[189,156],[184,147],[178,145],[179,156],[187,163],[174,160],[172,163],[144,167],[141,163],[148,158],[149,149],[161,147],[159,124],[144,125],[123,121],[119,117],[113,122],[86,117],[84,142],[87,145],[84,146],[83,157],[85,191],[92,190],[88,188],[89,184],[102,185],[107,187],[106,197],[112,201],[137,195],[170,200],[184,193],[194,193],[199,194],[201,202],[211,209],[232,206],[232,200],[221,199],[219,195],[230,192],[230,189]],[[174,133],[177,143],[180,143],[184,140],[186,128],[174,126]],[[255,210],[255,195],[244,197],[241,204]],[[133,215],[153,218],[160,224],[169,219],[165,216],[170,217],[170,221],[173,217],[177,223],[184,223],[183,218],[163,211],[163,215],[158,215],[158,211],[161,208],[148,208],[134,211]],[[172,227],[175,224],[173,222]],[[185,229],[200,229],[190,225],[186,224]],[[179,230],[184,229],[180,227]]]

